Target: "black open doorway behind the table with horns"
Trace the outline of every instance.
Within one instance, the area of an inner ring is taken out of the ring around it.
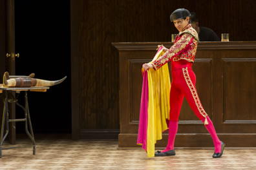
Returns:
[[[70,133],[70,1],[15,1],[16,75],[37,79],[67,79],[46,93],[28,93],[35,133]],[[22,102],[23,96],[19,96]],[[22,117],[16,109],[16,116]],[[16,123],[24,133],[23,123]]]

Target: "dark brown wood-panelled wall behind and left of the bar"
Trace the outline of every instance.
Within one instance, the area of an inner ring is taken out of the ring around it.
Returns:
[[[82,53],[80,129],[119,129],[118,52],[111,42],[171,41],[177,31],[169,15],[176,8],[197,12],[200,25],[212,28],[219,37],[229,33],[231,41],[256,40],[253,0],[76,1],[72,9],[82,15],[73,23],[79,29],[72,32],[80,36]]]

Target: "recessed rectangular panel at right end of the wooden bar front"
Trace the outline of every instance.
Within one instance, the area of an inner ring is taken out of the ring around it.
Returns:
[[[223,122],[256,123],[256,58],[224,59],[223,79]]]

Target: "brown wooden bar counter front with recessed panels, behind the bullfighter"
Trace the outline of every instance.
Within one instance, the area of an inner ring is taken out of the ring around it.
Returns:
[[[119,147],[136,145],[140,118],[142,64],[153,59],[158,44],[116,42],[120,63]],[[193,70],[202,106],[227,147],[256,147],[256,42],[199,42]],[[170,74],[171,75],[171,74]],[[149,125],[150,126],[150,125]],[[156,147],[165,147],[167,133]],[[213,147],[202,122],[182,104],[175,147]]]

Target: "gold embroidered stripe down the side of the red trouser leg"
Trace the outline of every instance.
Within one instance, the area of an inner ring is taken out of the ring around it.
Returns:
[[[193,85],[193,83],[192,83],[192,81],[189,77],[189,73],[187,71],[187,68],[182,68],[182,71],[183,71],[184,78],[187,82],[187,86],[189,87],[189,90],[191,91],[191,94],[192,94],[192,96],[195,100],[195,104],[197,105],[197,109],[198,109],[199,113],[203,117],[206,118],[208,115],[207,115],[206,111],[204,111],[204,108],[202,107],[202,104],[201,104],[201,102],[199,100],[199,97],[197,95],[197,91],[195,90],[195,87],[194,87],[194,85]]]

